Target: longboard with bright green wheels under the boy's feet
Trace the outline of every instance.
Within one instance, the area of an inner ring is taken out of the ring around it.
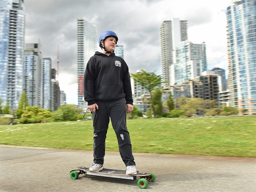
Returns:
[[[72,179],[77,179],[80,174],[85,175],[93,175],[93,176],[101,176],[101,177],[112,177],[112,178],[121,178],[121,179],[128,179],[128,180],[136,180],[137,177],[140,179],[138,180],[139,188],[145,189],[149,182],[155,181],[155,174],[154,173],[139,173],[137,171],[136,175],[127,175],[124,170],[115,170],[115,169],[102,169],[99,172],[90,172],[89,167],[77,167],[76,170],[71,170],[70,177]]]

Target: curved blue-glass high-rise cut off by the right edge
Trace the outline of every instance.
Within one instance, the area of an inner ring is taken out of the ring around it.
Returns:
[[[233,0],[226,12],[230,102],[244,114],[256,114],[255,12],[255,0]]]

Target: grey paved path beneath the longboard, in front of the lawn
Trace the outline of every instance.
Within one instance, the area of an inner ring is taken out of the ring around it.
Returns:
[[[153,172],[157,179],[146,189],[137,181],[80,175],[69,171],[90,166],[93,153],[0,146],[1,192],[256,192],[255,158],[225,158],[134,153],[140,172]],[[107,152],[106,168],[125,169],[119,153]]]

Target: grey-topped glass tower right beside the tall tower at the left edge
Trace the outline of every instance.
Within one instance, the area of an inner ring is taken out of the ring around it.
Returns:
[[[26,44],[23,64],[23,90],[30,106],[42,108],[42,48],[41,44]]]

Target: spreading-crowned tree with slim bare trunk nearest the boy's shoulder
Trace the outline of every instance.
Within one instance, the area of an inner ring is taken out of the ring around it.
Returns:
[[[136,83],[148,90],[150,94],[151,117],[154,117],[152,91],[155,87],[160,86],[161,83],[164,83],[162,82],[161,75],[156,75],[154,72],[148,73],[142,69],[139,73],[131,74],[131,76]]]

